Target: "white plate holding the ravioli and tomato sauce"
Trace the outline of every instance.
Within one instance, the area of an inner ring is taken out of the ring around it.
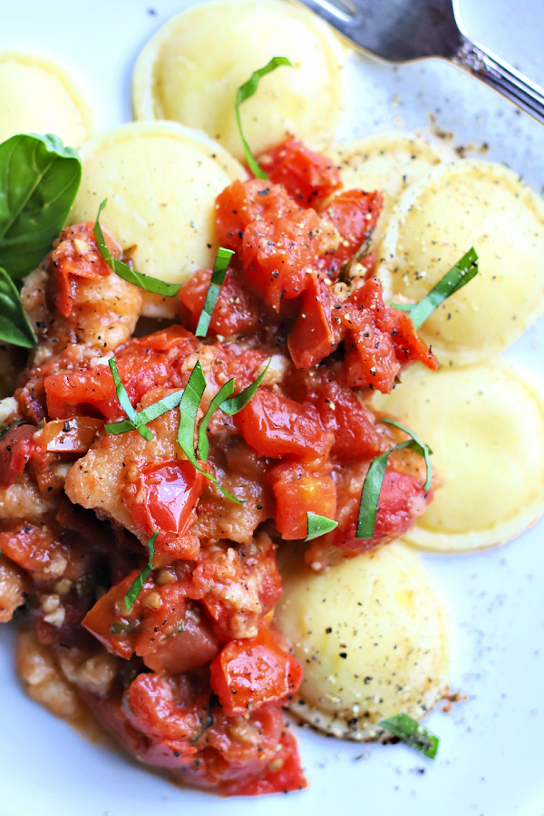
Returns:
[[[130,119],[134,60],[184,7],[181,0],[3,0],[0,48],[51,56],[79,75],[105,130]],[[544,5],[464,0],[472,36],[544,85],[539,62]],[[228,37],[228,32],[225,32]],[[218,43],[220,49],[221,44]],[[486,142],[535,189],[544,183],[544,129],[459,70],[435,61],[393,69],[361,58],[349,69],[341,135],[395,127],[424,130],[432,113],[457,144]],[[0,100],[1,106],[1,100]],[[515,242],[516,236],[512,236]],[[543,270],[544,275],[544,259]],[[513,347],[544,374],[541,321]],[[86,743],[25,698],[16,683],[8,627],[0,631],[0,816],[224,816],[341,811],[361,816],[542,816],[544,813],[544,525],[491,552],[426,556],[452,602],[458,656],[452,685],[470,695],[429,727],[441,736],[434,763],[402,745],[360,746],[295,727],[309,789],[222,801],[180,790],[121,754]]]

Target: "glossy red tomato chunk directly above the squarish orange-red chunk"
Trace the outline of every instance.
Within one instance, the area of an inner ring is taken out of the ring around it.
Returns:
[[[332,443],[312,405],[301,405],[261,388],[236,420],[246,442],[262,456],[293,454],[306,460],[320,459]]]

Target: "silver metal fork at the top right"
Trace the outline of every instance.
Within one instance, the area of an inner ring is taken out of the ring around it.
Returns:
[[[458,0],[298,0],[365,52],[393,63],[441,57],[544,124],[544,91],[465,34]]]

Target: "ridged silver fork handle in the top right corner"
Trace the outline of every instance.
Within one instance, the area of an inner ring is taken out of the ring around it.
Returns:
[[[544,91],[538,85],[529,83],[529,80],[514,71],[510,65],[502,63],[494,54],[485,51],[481,45],[471,43],[471,40],[463,36],[461,47],[452,57],[452,62],[510,99],[510,102],[514,102],[540,124],[544,124]]]

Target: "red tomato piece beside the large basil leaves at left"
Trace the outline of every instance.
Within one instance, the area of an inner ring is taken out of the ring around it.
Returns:
[[[63,229],[59,238],[53,243],[49,256],[49,269],[56,276],[55,306],[64,316],[70,316],[75,294],[76,277],[97,280],[107,277],[112,270],[100,254],[93,224],[74,224]],[[121,249],[113,238],[103,230],[104,239],[114,257],[120,257]]]

